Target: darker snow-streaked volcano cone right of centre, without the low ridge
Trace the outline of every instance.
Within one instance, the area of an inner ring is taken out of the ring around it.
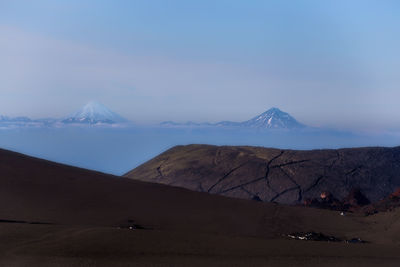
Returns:
[[[268,129],[293,129],[305,127],[295,118],[290,116],[288,113],[281,111],[279,108],[271,108],[248,121],[242,122],[241,125]]]

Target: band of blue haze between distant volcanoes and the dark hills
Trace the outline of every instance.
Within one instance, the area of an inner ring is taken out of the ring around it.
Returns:
[[[22,128],[0,130],[0,147],[122,175],[175,145],[253,145],[290,149],[394,146],[400,136],[335,131],[207,128]]]

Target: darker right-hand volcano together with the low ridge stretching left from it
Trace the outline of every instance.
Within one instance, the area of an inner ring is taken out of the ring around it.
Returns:
[[[299,123],[289,113],[281,111],[279,108],[271,108],[264,113],[243,122],[221,121],[217,123],[195,123],[192,121],[186,123],[177,123],[166,121],[162,126],[217,126],[217,127],[245,127],[261,129],[300,129],[306,127]]]

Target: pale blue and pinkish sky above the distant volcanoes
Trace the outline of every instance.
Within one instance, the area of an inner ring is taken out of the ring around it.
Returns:
[[[396,0],[0,0],[0,114],[400,131]]]

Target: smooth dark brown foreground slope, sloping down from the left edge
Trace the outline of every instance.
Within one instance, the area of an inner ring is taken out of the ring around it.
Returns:
[[[340,240],[294,240],[291,233]],[[232,199],[0,150],[0,266],[399,266],[400,210]]]

